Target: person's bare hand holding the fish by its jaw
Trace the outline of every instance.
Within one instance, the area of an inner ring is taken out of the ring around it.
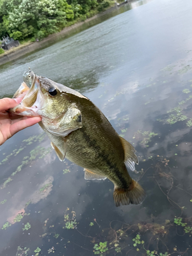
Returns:
[[[14,108],[22,98],[0,99],[0,145],[11,138],[15,133],[41,121],[40,117],[22,117],[6,112]]]

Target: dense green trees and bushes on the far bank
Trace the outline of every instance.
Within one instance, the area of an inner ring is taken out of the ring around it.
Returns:
[[[98,3],[99,2],[99,3]],[[60,31],[77,19],[84,20],[98,8],[109,7],[103,0],[1,0],[0,38],[9,34],[15,40],[41,39]],[[1,53],[0,53],[1,54]]]

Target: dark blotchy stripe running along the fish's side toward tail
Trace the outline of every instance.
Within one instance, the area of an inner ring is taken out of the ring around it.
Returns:
[[[84,131],[84,129],[79,129],[79,131],[82,132],[83,138],[87,141],[89,146],[96,148],[96,150],[99,153],[98,158],[101,158],[109,166],[109,169],[112,169],[115,172],[115,175],[118,177],[122,184],[122,188],[127,188],[127,182],[122,178],[118,168],[111,163],[111,161],[109,160],[109,155],[107,155],[106,152],[101,150],[101,147],[97,144],[97,141],[92,140],[90,136],[86,133],[86,131]]]

